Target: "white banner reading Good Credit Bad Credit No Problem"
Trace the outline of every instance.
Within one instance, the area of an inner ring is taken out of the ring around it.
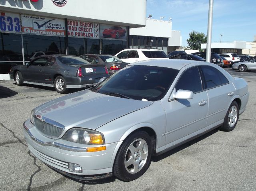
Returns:
[[[99,24],[68,20],[68,36],[99,38]]]

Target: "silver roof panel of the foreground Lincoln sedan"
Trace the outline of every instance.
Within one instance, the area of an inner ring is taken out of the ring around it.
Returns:
[[[131,63],[129,65],[145,65],[145,66],[159,66],[159,67],[166,67],[166,68],[173,68],[177,70],[181,70],[186,65],[192,63],[206,63],[202,61],[195,61],[195,60],[183,60],[183,59],[154,59],[154,60],[144,60]]]

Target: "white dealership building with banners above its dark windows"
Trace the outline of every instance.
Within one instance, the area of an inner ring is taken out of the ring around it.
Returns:
[[[10,67],[50,53],[168,53],[172,33],[171,22],[146,19],[146,0],[4,0],[0,14],[0,80],[9,79]]]

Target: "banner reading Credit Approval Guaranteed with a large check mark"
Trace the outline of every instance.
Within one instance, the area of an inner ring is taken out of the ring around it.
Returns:
[[[21,15],[22,32],[38,35],[65,36],[65,20]]]

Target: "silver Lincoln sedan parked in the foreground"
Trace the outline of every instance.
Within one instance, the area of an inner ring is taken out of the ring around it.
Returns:
[[[60,173],[132,181],[151,156],[214,128],[232,131],[248,97],[246,81],[215,64],[141,61],[33,109],[24,136],[29,150]]]

